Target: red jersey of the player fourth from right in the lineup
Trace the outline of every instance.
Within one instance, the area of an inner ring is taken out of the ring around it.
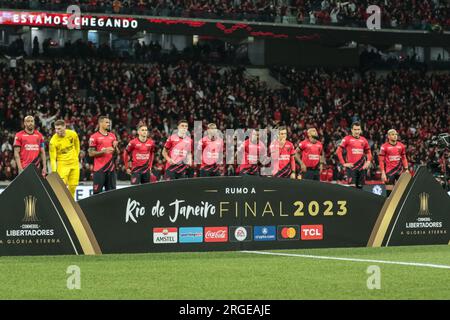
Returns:
[[[272,159],[272,174],[275,176],[288,177],[295,171],[295,147],[292,142],[287,141],[280,146],[280,141],[275,140],[270,144],[270,157]]]

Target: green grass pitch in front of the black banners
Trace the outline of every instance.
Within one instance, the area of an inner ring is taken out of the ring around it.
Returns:
[[[270,252],[450,266],[450,246]],[[371,265],[380,289],[367,287]],[[0,299],[450,299],[450,269],[243,252],[0,257]]]

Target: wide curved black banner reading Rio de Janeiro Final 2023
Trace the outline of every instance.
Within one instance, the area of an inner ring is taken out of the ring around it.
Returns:
[[[385,198],[265,177],[185,179],[81,200],[103,253],[366,246]]]

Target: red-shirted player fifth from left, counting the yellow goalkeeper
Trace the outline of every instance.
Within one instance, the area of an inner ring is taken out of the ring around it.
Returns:
[[[180,120],[177,132],[164,144],[162,155],[166,159],[165,179],[187,178],[192,164],[192,139],[188,136],[188,122]]]

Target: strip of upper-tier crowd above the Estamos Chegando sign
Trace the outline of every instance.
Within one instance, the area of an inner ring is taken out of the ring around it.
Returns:
[[[369,5],[381,8],[382,27],[442,30],[450,27],[445,0],[0,0],[2,8],[209,18],[365,27]]]

